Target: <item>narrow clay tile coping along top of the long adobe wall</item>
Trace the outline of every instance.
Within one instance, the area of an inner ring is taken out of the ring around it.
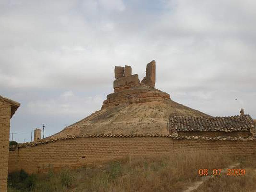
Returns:
[[[187,140],[209,140],[209,141],[217,141],[217,140],[222,140],[222,141],[256,141],[256,137],[203,137],[203,136],[182,136],[182,135],[151,135],[151,134],[133,134],[133,135],[112,135],[112,134],[97,134],[97,135],[68,135],[67,137],[62,137],[62,138],[56,138],[56,139],[42,139],[38,140],[38,142],[27,142],[27,143],[19,143],[18,145],[10,146],[10,150],[14,150],[15,148],[23,148],[23,147],[35,147],[38,145],[44,145],[52,142],[58,142],[60,140],[69,140],[69,139],[77,139],[77,138],[93,138],[93,137],[98,137],[98,138],[136,138],[136,137],[168,137],[172,139],[187,139]]]

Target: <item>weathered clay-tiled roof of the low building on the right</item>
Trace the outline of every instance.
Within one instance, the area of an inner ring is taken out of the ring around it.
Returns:
[[[250,131],[253,120],[249,115],[231,117],[170,116],[169,130],[179,131]]]

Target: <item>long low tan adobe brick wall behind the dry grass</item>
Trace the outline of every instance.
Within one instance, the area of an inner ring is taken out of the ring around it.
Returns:
[[[76,167],[126,156],[159,156],[180,151],[208,150],[227,154],[253,154],[256,141],[210,141],[170,137],[79,137],[9,151],[9,172],[28,173],[49,168]]]

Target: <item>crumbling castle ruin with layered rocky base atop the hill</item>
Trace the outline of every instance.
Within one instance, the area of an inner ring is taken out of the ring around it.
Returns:
[[[115,67],[114,93],[107,96],[102,108],[118,106],[124,103],[143,103],[170,100],[168,93],[155,89],[156,61],[147,64],[146,76],[140,82],[138,74],[132,75],[132,67]]]

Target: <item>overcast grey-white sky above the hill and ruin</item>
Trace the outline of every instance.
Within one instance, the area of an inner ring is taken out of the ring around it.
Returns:
[[[0,95],[21,103],[14,140],[99,110],[115,66],[141,80],[151,60],[172,100],[256,119],[255,23],[254,0],[0,0]]]

